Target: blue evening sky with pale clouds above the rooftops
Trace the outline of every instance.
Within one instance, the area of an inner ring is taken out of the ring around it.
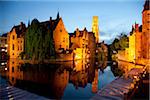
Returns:
[[[100,39],[110,43],[121,32],[129,33],[135,22],[142,23],[143,5],[144,0],[0,1],[0,33],[21,21],[56,18],[59,11],[69,33],[84,27],[91,31],[92,16],[98,16]]]

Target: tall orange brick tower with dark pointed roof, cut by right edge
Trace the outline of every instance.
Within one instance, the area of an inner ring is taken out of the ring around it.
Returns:
[[[142,45],[143,58],[150,59],[150,1],[145,0],[142,12]]]

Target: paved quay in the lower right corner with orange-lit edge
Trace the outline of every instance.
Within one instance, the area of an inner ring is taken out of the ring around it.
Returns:
[[[92,99],[128,99],[128,94],[133,93],[134,89],[139,86],[140,80],[149,72],[146,70],[147,67],[132,68],[125,76],[118,77],[99,90]]]

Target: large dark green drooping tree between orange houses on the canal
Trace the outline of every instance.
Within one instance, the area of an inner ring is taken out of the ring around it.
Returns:
[[[25,54],[33,60],[55,55],[52,31],[34,19],[25,34]]]

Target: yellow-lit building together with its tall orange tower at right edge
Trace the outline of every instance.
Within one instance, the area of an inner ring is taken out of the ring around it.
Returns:
[[[126,49],[128,55],[126,59],[130,62],[150,59],[150,2],[146,0],[142,12],[142,25],[132,26],[129,36],[129,48]]]

